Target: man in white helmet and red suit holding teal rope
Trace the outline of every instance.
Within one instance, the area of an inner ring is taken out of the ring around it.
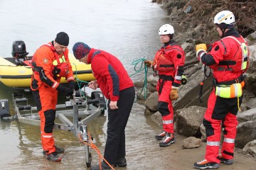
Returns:
[[[161,26],[159,35],[164,46],[156,52],[153,62],[149,60],[144,62],[148,67],[153,67],[159,75],[156,90],[159,94],[158,111],[162,116],[164,132],[155,137],[156,140],[161,140],[160,147],[166,147],[175,142],[172,101],[178,98],[178,86],[181,84],[184,72],[185,54],[181,46],[173,40],[173,26],[170,24]]]

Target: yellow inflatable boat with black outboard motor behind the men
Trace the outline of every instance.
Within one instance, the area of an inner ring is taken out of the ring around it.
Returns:
[[[0,57],[0,81],[6,86],[14,89],[30,89],[31,83],[31,58],[26,52],[26,45],[23,41],[14,41],[12,56]],[[72,65],[75,79],[80,81],[92,81],[95,77],[92,75],[90,64],[84,64],[75,59],[74,55],[68,55]],[[60,81],[66,84],[65,78]]]

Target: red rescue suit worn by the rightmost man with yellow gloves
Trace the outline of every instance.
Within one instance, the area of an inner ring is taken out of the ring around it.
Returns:
[[[245,44],[242,52],[241,43],[246,43],[236,30],[228,30],[222,40],[213,43],[212,50],[201,55],[203,64],[213,70],[215,86],[240,83],[244,79],[243,73],[248,67],[249,51]],[[245,62],[245,68],[241,63]],[[233,159],[235,148],[236,127],[238,125],[238,106],[242,103],[239,98],[222,98],[215,95],[215,88],[208,98],[208,108],[204,115],[203,125],[206,127],[207,146],[205,159],[220,164],[217,159],[220,147],[221,127],[224,128],[224,140],[221,154],[225,159]]]

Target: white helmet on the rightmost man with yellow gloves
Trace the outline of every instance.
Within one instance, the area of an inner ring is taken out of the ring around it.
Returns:
[[[220,11],[214,17],[214,23],[225,23],[228,25],[233,25],[233,23],[235,23],[235,16],[231,11]]]

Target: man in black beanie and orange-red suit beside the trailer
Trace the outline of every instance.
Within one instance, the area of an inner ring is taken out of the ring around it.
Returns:
[[[53,162],[60,161],[62,157],[58,154],[64,152],[64,149],[55,146],[53,138],[58,92],[71,96],[75,89],[73,71],[68,60],[68,42],[68,34],[60,32],[55,40],[39,47],[32,57],[31,89],[41,118],[43,154]],[[61,77],[65,77],[69,87],[60,84]]]

